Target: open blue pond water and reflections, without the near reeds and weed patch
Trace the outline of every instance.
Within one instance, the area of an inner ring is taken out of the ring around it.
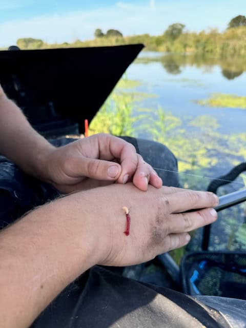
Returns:
[[[200,99],[207,99],[214,93],[245,96],[245,70],[244,58],[219,60],[208,56],[170,55],[155,52],[142,52],[127,70],[127,78],[140,81],[137,91],[156,95],[156,97],[145,97],[136,103],[135,113],[139,108],[149,108],[155,112],[161,107],[163,111],[171,112],[172,115],[180,118],[181,128],[186,133],[183,136],[187,138],[191,136],[188,140],[191,148],[194,147],[195,140],[198,142],[198,148],[194,148],[193,153],[187,154],[187,150],[184,150],[183,153],[179,151],[178,156],[175,154],[178,160],[185,164],[189,162],[189,158],[194,157],[183,173],[199,176],[180,174],[180,180],[185,187],[206,190],[210,179],[202,176],[218,177],[227,173],[237,163],[245,161],[246,110],[205,107],[196,102]],[[200,118],[202,115],[209,116],[207,123],[213,120],[217,127],[214,125],[214,129],[210,127],[206,130],[206,120],[202,121]],[[190,123],[195,118],[198,122],[200,120],[200,127],[199,123],[196,128],[191,126]],[[173,138],[175,138],[175,133],[179,132],[175,132],[174,129]],[[241,134],[239,138],[236,137],[238,134]],[[138,132],[138,136],[151,138],[151,133],[142,129]],[[170,148],[175,153],[175,147]],[[203,162],[202,159],[204,159]],[[193,165],[192,161],[197,163]],[[243,187],[243,179],[239,177],[237,183],[231,183],[221,189],[219,194]],[[211,244],[214,248],[245,247],[246,241],[242,240],[246,222],[244,211],[244,206],[238,206],[219,214],[219,220],[214,224],[212,231]],[[197,243],[196,240],[195,244]]]

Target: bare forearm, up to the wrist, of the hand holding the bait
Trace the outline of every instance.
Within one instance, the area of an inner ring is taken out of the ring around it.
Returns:
[[[93,219],[74,194],[0,234],[0,326],[27,327],[66,285],[98,262]]]

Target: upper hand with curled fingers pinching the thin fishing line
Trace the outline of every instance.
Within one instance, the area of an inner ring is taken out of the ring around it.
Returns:
[[[133,181],[143,191],[148,183],[155,188],[162,186],[157,173],[129,142],[108,134],[96,134],[51,149],[40,161],[39,171],[41,178],[65,193],[114,181]]]

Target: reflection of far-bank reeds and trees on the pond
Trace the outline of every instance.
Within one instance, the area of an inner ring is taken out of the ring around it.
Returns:
[[[231,80],[240,76],[246,71],[246,59],[243,56],[212,57],[208,54],[165,54],[160,56],[145,56],[137,58],[135,63],[149,64],[153,62],[161,63],[161,66],[169,74],[180,74],[182,67],[195,66],[206,71],[212,71],[214,66],[221,68],[221,74]]]

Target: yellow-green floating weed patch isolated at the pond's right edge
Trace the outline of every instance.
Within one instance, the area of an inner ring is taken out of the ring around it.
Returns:
[[[214,93],[209,99],[197,100],[197,104],[210,107],[246,109],[246,97],[233,94]]]

